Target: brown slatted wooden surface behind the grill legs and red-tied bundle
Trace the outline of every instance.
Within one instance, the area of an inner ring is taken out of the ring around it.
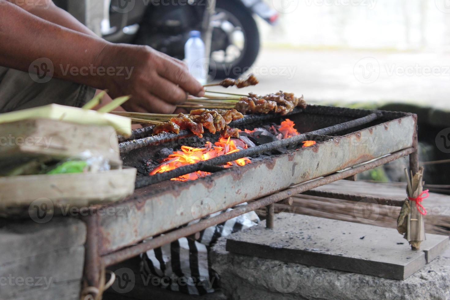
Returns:
[[[340,180],[316,188],[316,190],[398,200],[405,200],[406,197],[406,183],[383,184]],[[450,235],[450,196],[430,193],[430,196],[423,200],[423,206],[428,212],[425,216],[425,232]],[[292,212],[389,228],[396,228],[397,217],[400,213],[400,207],[378,206],[372,203],[366,204],[302,194],[293,197],[293,206],[275,204],[275,210],[277,212]],[[264,215],[264,211],[262,213]]]

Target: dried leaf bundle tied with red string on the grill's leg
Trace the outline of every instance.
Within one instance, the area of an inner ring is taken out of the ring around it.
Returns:
[[[422,201],[428,197],[428,190],[423,191],[423,167],[414,176],[412,173],[408,174],[406,169],[405,174],[408,197],[397,219],[397,230],[403,234],[413,250],[419,250],[420,243],[426,239],[423,217],[427,215],[427,210]]]

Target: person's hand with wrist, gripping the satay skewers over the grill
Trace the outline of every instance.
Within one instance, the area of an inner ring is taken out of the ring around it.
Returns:
[[[95,65],[127,67],[131,71],[130,76],[99,78],[112,98],[132,95],[122,105],[127,111],[172,113],[177,104],[186,101],[188,93],[199,97],[204,94],[202,85],[183,62],[148,46],[107,45]]]

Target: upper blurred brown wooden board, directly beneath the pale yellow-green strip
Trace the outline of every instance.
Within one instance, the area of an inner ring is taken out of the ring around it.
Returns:
[[[103,157],[121,165],[116,131],[111,126],[33,119],[0,124],[0,137],[0,166],[33,157]]]

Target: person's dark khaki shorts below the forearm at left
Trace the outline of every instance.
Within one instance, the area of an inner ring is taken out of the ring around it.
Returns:
[[[0,112],[12,112],[50,103],[81,107],[95,89],[69,81],[50,79],[39,83],[27,72],[0,67]]]

